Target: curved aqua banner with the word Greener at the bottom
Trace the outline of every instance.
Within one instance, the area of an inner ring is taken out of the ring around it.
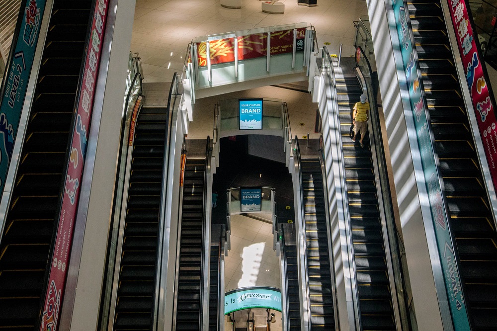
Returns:
[[[274,287],[254,286],[226,292],[224,315],[250,308],[274,309],[281,312],[280,290]]]

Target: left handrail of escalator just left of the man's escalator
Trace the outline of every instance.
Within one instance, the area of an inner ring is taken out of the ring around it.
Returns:
[[[306,308],[307,308],[307,316],[305,316],[307,318],[307,325],[305,326],[306,328],[310,328],[311,327],[311,301],[310,301],[310,288],[309,288],[309,272],[307,270],[308,268],[308,262],[307,262],[307,235],[306,235],[306,221],[305,221],[305,217],[304,217],[304,210],[305,210],[305,206],[304,206],[304,196],[303,196],[303,188],[302,188],[302,162],[301,162],[301,155],[300,155],[300,145],[299,145],[299,139],[297,136],[295,136],[295,158],[294,158],[294,162],[295,162],[295,165],[296,167],[298,167],[298,175],[299,175],[299,180],[298,180],[298,185],[299,185],[299,192],[300,192],[300,197],[299,198],[299,204],[300,204],[300,208],[301,208],[301,215],[300,216],[300,219],[302,220],[302,222],[300,223],[300,227],[302,228],[302,236],[304,236],[304,238],[299,238],[299,240],[302,240],[303,241],[303,245],[304,245],[304,249],[305,251],[303,252],[303,254],[301,253],[301,255],[303,255],[303,263],[304,263],[304,268],[305,268],[305,279],[303,279],[306,284],[306,291],[307,291],[307,294],[305,296],[303,296],[303,300],[304,300],[304,303],[306,305]],[[300,237],[300,234],[299,234],[299,237]],[[297,240],[297,243],[299,242],[299,240]],[[300,278],[300,277],[299,277]],[[303,309],[304,307],[301,307],[301,309]]]

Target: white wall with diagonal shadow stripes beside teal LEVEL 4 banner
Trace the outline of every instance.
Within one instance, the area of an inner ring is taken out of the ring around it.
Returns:
[[[421,164],[415,157],[419,153],[407,134],[408,128],[412,127],[408,116],[412,115],[410,109],[406,110],[407,116],[404,115],[400,95],[394,61],[394,49],[398,46],[392,45],[387,21],[386,8],[391,7],[390,3],[389,0],[367,0],[416,321],[419,330],[443,330],[431,262],[436,252],[427,239],[432,224],[430,218],[423,219],[423,213],[428,212],[429,215],[427,204],[423,203],[426,199],[422,198],[426,196],[424,183],[416,183],[414,175],[421,169]],[[442,288],[442,291],[445,290]]]

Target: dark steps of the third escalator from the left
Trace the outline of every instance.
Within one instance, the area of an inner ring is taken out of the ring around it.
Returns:
[[[188,158],[184,167],[181,238],[177,276],[176,330],[202,330],[202,228],[206,159]]]

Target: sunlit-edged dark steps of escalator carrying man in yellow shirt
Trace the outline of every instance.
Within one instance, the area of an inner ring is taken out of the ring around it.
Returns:
[[[355,143],[350,137],[352,109],[362,87],[353,72],[348,72],[337,74],[336,93],[361,329],[396,330],[369,135],[364,136],[364,148],[359,145],[359,134]]]

